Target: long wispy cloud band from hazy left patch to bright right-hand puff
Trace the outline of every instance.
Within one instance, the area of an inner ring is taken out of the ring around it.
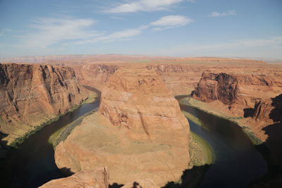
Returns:
[[[91,30],[90,26],[96,23],[95,20],[91,19],[37,18],[32,20],[32,24],[29,25],[29,32],[20,36],[21,44],[18,44],[18,46],[35,49],[46,48],[52,44],[94,44],[130,40],[149,28],[155,31],[166,30],[188,25],[192,22],[192,19],[183,15],[167,15],[147,25],[107,34],[106,32]]]

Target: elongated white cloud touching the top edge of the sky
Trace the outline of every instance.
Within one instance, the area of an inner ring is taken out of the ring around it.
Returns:
[[[178,4],[182,1],[183,0],[135,0],[107,8],[106,10],[104,10],[104,12],[134,13],[137,11],[161,11],[161,10],[167,10],[171,6]]]

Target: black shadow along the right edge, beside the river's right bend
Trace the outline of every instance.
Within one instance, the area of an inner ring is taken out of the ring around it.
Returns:
[[[273,124],[264,127],[266,142],[257,146],[268,165],[268,173],[250,183],[249,187],[282,187],[282,94],[271,98],[274,108],[269,113]]]

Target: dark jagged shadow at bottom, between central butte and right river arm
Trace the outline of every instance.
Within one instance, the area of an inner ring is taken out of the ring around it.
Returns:
[[[192,169],[183,171],[180,182],[168,182],[162,188],[194,188],[199,187],[204,179],[204,174],[209,169],[210,165],[194,166]]]

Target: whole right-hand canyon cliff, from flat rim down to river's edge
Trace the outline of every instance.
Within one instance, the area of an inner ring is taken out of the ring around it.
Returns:
[[[268,146],[271,160],[282,167],[282,68],[262,70],[264,74],[245,71],[206,71],[192,97],[208,102],[214,111],[240,118],[239,125],[250,127]]]

